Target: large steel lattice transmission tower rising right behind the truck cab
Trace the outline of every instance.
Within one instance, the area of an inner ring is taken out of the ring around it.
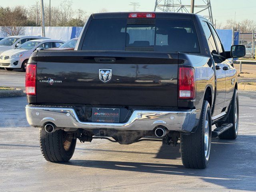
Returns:
[[[198,4],[198,2],[201,2],[201,4]],[[182,4],[181,0],[156,0],[154,11],[161,10],[163,12],[190,13],[190,8],[191,5],[189,3]],[[194,4],[194,13],[202,14],[205,18],[207,18],[208,20],[210,20],[210,22],[213,23],[212,6],[210,0],[197,0],[196,3]]]

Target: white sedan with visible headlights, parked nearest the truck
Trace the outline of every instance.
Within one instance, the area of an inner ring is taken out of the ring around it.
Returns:
[[[4,67],[8,71],[17,68],[26,71],[28,59],[33,51],[59,47],[63,43],[64,41],[62,40],[52,39],[35,39],[25,42],[16,49],[2,52],[0,55],[0,67]]]

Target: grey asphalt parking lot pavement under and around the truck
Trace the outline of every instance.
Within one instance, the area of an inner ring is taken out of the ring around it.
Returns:
[[[255,191],[256,93],[240,92],[239,136],[212,140],[210,166],[182,166],[179,146],[77,142],[68,163],[46,162],[26,97],[0,98],[0,191]]]

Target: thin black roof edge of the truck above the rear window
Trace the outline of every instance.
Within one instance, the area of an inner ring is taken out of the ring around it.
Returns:
[[[108,13],[95,13],[92,15],[93,19],[105,19],[105,18],[128,18],[128,14],[135,12],[108,12]],[[136,12],[140,13],[140,12]],[[145,13],[145,12],[144,12]],[[192,13],[174,13],[174,12],[148,12],[155,13],[156,18],[161,19],[185,19],[192,20],[193,16],[198,16]]]

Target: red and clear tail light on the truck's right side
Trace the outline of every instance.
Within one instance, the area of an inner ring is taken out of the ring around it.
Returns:
[[[196,79],[194,68],[179,68],[179,99],[196,98]]]

